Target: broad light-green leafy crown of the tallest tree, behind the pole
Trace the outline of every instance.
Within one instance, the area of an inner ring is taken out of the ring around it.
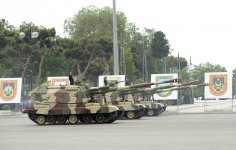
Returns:
[[[64,21],[64,29],[75,41],[90,38],[112,37],[112,14],[109,7],[84,7],[73,17]],[[124,32],[127,18],[122,12],[117,12],[118,35]]]

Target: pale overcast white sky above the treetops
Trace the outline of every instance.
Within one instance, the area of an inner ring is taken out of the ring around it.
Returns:
[[[19,27],[26,22],[55,27],[64,36],[64,20],[87,6],[113,7],[113,0],[0,0],[0,18]],[[172,55],[193,65],[209,62],[236,68],[235,0],[116,0],[116,10],[140,31],[165,33]]]

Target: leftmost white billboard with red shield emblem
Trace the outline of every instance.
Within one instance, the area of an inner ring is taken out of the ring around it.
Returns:
[[[0,103],[21,103],[22,78],[0,78]]]

